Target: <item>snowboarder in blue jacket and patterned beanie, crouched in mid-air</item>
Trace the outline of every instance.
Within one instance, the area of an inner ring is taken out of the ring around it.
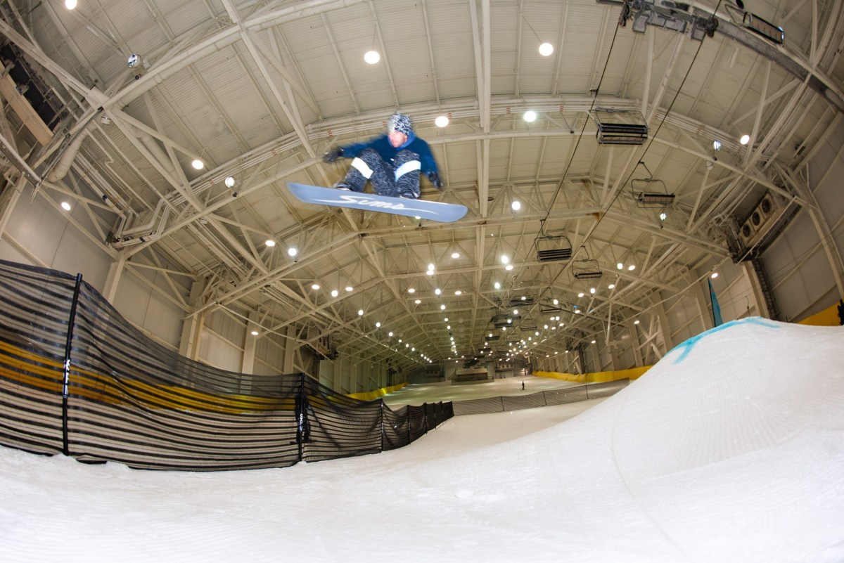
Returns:
[[[333,163],[338,158],[352,158],[344,180],[333,187],[362,192],[366,180],[379,196],[419,198],[419,172],[431,185],[442,190],[439,169],[428,143],[416,137],[408,115],[396,113],[387,121],[387,134],[369,141],[328,149],[322,160]]]

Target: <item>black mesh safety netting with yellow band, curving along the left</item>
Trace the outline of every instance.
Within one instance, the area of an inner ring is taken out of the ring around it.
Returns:
[[[392,411],[305,374],[208,367],[82,281],[0,260],[0,444],[146,469],[286,467],[413,442],[451,404]]]

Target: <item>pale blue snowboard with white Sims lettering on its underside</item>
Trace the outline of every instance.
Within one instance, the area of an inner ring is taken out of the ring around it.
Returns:
[[[405,200],[399,197],[376,196],[376,194],[322,188],[318,185],[297,184],[295,182],[288,182],[287,188],[296,199],[306,203],[392,213],[394,215],[430,219],[441,223],[453,223],[468,212],[466,206],[442,203],[441,201]]]

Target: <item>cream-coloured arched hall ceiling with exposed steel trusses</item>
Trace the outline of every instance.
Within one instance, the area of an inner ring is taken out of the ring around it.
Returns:
[[[477,352],[492,316],[522,295],[536,302],[521,313],[543,350],[643,317],[730,260],[726,233],[767,190],[799,193],[802,167],[841,118],[844,13],[831,0],[745,9],[781,25],[785,45],[731,25],[740,10],[711,1],[675,10],[700,22],[715,13],[718,29],[703,40],[654,25],[636,33],[631,20],[619,25],[621,3],[596,0],[79,0],[73,11],[9,0],[0,32],[68,115],[46,150],[27,155],[41,189],[76,191],[102,233],[121,234],[124,217],[122,234],[135,234],[111,249],[207,278],[199,308],[252,314],[265,333],[293,326],[319,350],[331,340],[357,357],[395,357],[401,335],[416,348],[403,350],[409,366],[420,353],[452,356],[450,335],[459,354]],[[540,40],[551,56],[538,54]],[[376,65],[363,60],[372,48]],[[133,53],[143,72],[127,67]],[[599,108],[641,112],[647,142],[598,144],[588,112]],[[289,195],[288,181],[338,180],[348,161],[323,164],[322,153],[378,134],[395,110],[412,116],[441,166],[445,190],[425,181],[423,197],[463,203],[463,220],[419,223]],[[523,121],[525,110],[537,121]],[[434,126],[437,115],[450,124]],[[78,153],[65,132],[81,139]],[[51,180],[60,155],[73,166]],[[676,199],[661,224],[663,210],[632,194],[662,190]],[[279,244],[268,249],[268,238]],[[538,262],[537,244],[566,241],[573,260]],[[603,278],[577,281],[582,260]],[[552,298],[565,326],[546,331],[539,303]]]

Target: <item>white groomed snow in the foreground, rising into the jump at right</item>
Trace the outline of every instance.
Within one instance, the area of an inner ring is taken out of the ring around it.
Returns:
[[[0,560],[844,561],[844,329],[733,322],[603,401],[286,469],[0,448]]]

